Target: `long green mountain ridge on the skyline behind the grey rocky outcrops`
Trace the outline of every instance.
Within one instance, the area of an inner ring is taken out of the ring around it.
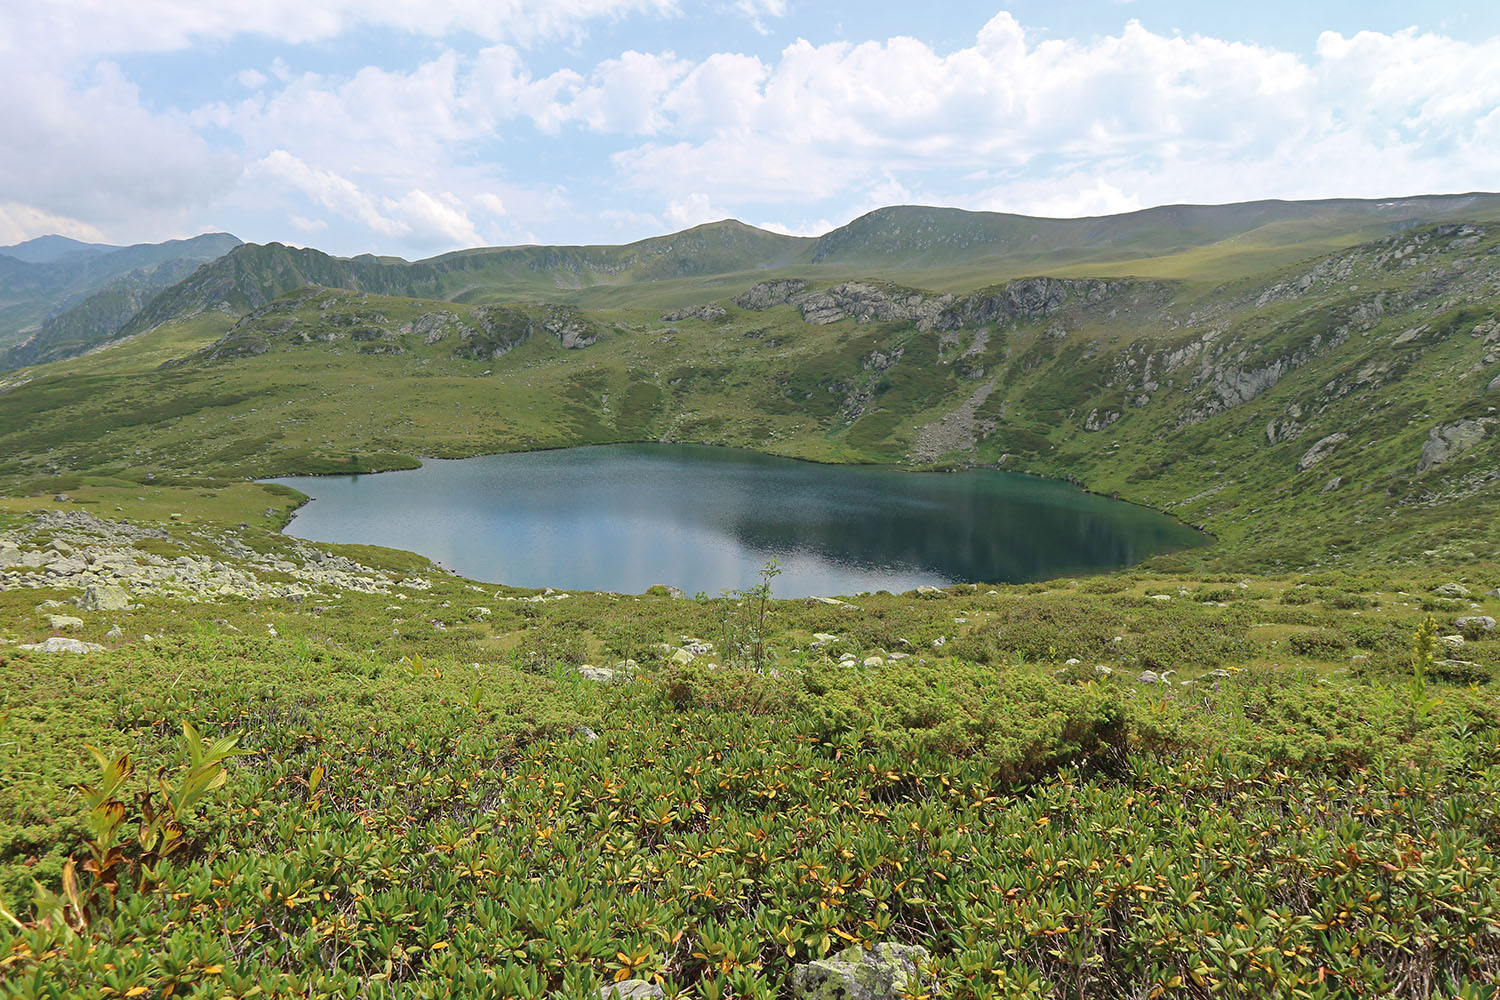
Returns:
[[[1198,258],[1215,258],[1221,270],[1214,277],[1222,279],[1468,216],[1500,217],[1500,195],[1182,204],[1080,219],[890,205],[820,237],[724,219],[618,246],[470,247],[417,261],[243,244],[142,304],[118,336],[206,312],[243,315],[300,285],[471,304],[681,307],[716,283],[756,273],[830,283],[912,277],[930,279],[922,283],[934,289],[972,291],[1026,274],[1176,277],[1173,268],[1191,273]]]

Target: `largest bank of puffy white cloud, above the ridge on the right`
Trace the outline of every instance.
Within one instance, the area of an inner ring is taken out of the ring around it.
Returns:
[[[1302,58],[1136,21],[1032,42],[1000,13],[948,54],[896,37],[800,40],[774,66],[711,57],[614,163],[664,199],[854,204],[884,177],[946,202],[1100,214],[1494,187],[1497,108],[1500,39],[1324,34]]]

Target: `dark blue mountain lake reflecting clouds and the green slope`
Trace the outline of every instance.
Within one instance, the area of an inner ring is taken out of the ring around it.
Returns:
[[[312,496],[312,541],[418,552],[477,580],[639,594],[780,597],[1014,583],[1202,544],[1161,514],[993,469],[900,472],[700,445],[609,445],[350,477],[274,480]]]

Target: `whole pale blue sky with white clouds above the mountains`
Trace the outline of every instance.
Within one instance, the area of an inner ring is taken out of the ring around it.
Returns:
[[[1500,189],[1492,0],[0,0],[0,244]]]

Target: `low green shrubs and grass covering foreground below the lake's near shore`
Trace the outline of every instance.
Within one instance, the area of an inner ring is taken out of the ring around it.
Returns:
[[[186,847],[128,862],[86,925],[0,930],[0,991],[582,996],[624,975],[770,997],[798,963],[903,940],[957,997],[1482,996],[1500,643],[1466,648],[1482,687],[1437,679],[1412,715],[1407,643],[1440,579],[774,601],[759,673],[657,645],[714,642],[732,607],[516,604],[444,577],[399,601],[87,615],[110,652],[0,654],[8,909],[81,850],[82,744],[142,777],[177,774],[183,723],[248,753]],[[45,595],[0,594],[3,619],[38,621]],[[892,648],[915,655],[834,661]],[[572,670],[626,654],[626,684]]]

